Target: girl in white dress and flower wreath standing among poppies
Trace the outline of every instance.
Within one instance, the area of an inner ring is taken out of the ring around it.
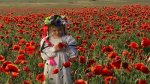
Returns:
[[[67,19],[54,15],[45,19],[46,36],[40,42],[41,57],[46,60],[44,75],[49,79],[43,84],[73,84],[71,79],[69,58],[76,59],[76,40],[67,35],[65,26]]]

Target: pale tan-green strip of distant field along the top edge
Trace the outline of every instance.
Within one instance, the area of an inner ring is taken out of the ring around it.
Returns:
[[[1,8],[19,8],[19,7],[48,7],[48,8],[62,8],[62,7],[102,7],[102,6],[124,6],[124,5],[132,5],[132,4],[140,4],[140,5],[149,5],[149,0],[27,0],[27,1],[18,1],[18,0],[0,0],[0,7]]]

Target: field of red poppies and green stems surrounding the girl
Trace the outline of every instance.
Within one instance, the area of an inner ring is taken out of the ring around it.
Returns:
[[[0,84],[42,84],[40,56],[43,21],[65,15],[78,57],[71,67],[74,84],[150,83],[150,6],[0,9]],[[66,67],[66,68],[67,68]],[[57,74],[59,70],[54,70]]]

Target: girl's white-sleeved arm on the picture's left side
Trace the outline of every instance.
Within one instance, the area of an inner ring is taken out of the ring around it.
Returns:
[[[55,46],[53,47],[47,47],[48,44],[44,43],[44,39],[43,38],[40,42],[40,47],[42,47],[42,45],[44,45],[44,49],[41,50],[41,57],[43,58],[43,60],[49,60],[50,57],[55,57],[56,56],[56,49]]]

